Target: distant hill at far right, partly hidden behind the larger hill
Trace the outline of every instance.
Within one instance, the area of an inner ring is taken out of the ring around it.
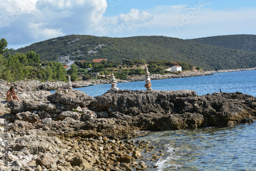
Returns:
[[[238,34],[188,39],[201,44],[256,52],[256,35]]]

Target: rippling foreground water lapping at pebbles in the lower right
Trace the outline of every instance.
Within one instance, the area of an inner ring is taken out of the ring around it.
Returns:
[[[226,128],[158,132],[135,140],[151,141],[157,146],[152,153],[164,153],[155,163],[158,170],[256,170],[255,130],[254,122]]]

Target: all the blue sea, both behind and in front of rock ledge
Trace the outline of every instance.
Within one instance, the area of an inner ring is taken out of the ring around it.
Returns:
[[[120,82],[121,90],[145,90],[145,81]],[[76,90],[100,96],[111,84]],[[256,70],[152,80],[153,90],[195,90],[197,95],[241,92],[256,97]],[[129,140],[147,141],[151,152],[141,152],[145,170],[256,170],[256,122],[224,128],[151,132]],[[153,159],[154,158],[157,159]]]

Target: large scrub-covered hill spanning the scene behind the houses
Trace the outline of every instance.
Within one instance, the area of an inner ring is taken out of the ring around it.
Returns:
[[[204,70],[256,67],[256,52],[229,49],[165,36],[97,37],[68,35],[36,42],[11,53],[34,51],[41,60],[68,62],[107,60],[185,61]]]

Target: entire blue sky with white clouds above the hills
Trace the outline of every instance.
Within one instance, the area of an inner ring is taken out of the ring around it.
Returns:
[[[182,39],[256,34],[255,0],[0,0],[8,48],[70,34]]]

